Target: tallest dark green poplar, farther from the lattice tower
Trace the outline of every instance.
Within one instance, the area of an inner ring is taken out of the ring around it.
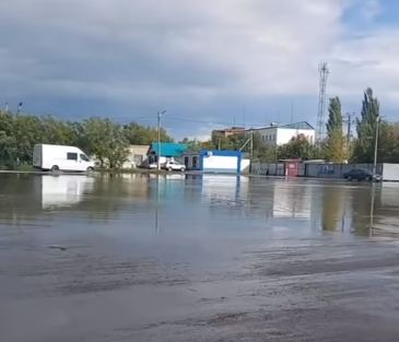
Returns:
[[[379,102],[373,95],[373,90],[364,92],[362,103],[362,117],[356,120],[357,140],[353,151],[353,160],[357,163],[372,163],[374,158],[374,144],[376,123],[379,119]]]

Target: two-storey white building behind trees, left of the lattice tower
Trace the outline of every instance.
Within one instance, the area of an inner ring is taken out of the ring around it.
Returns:
[[[259,133],[262,142],[272,146],[286,144],[297,135],[305,137],[312,144],[315,143],[315,129],[306,121],[289,125],[271,123],[270,126],[253,128],[248,131]]]

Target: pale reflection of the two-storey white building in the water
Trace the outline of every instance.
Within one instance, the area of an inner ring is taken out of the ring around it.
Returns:
[[[305,184],[274,184],[273,216],[309,219],[312,208],[312,187]]]

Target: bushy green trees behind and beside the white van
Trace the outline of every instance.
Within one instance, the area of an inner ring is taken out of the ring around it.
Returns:
[[[161,139],[173,141],[164,129]],[[127,160],[129,145],[156,140],[156,129],[136,122],[119,125],[108,118],[63,121],[52,116],[0,111],[0,168],[32,165],[36,143],[78,146],[95,155],[102,167],[117,168]]]

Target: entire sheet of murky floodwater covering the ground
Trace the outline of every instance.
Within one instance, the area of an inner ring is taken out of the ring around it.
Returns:
[[[0,341],[399,341],[398,190],[0,174]]]

